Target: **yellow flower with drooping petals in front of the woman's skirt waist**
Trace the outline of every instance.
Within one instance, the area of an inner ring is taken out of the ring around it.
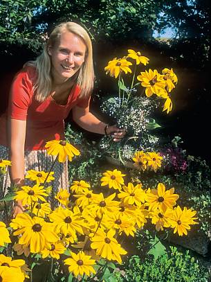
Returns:
[[[70,143],[63,140],[48,141],[46,143],[46,149],[48,155],[53,155],[53,156],[58,155],[58,161],[60,163],[64,163],[64,161],[66,161],[67,156],[68,156],[68,160],[72,161],[74,155],[76,156],[80,155],[79,150],[77,150]]]

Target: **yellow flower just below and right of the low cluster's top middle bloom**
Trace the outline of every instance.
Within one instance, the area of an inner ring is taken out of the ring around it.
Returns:
[[[123,186],[122,192],[118,194],[118,198],[122,199],[124,204],[136,204],[140,206],[145,202],[145,191],[141,188],[142,184],[134,186],[131,182],[127,186]]]

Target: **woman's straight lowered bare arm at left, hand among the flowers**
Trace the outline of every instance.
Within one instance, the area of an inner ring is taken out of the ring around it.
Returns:
[[[10,180],[12,184],[24,185],[24,145],[26,137],[26,121],[10,118],[8,121],[8,148],[10,167]],[[15,203],[13,216],[24,211],[21,201]]]

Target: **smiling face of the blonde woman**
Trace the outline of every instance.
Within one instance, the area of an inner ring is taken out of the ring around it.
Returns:
[[[84,63],[86,45],[83,40],[66,31],[55,46],[48,47],[51,55],[52,74],[55,83],[62,83],[74,76]]]

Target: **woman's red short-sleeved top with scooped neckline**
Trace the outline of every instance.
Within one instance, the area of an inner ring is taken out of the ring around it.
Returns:
[[[33,84],[37,77],[34,67],[17,73],[10,90],[9,106],[0,116],[0,144],[7,146],[7,118],[26,122],[25,150],[42,150],[47,141],[64,139],[64,119],[75,106],[88,107],[90,98],[79,98],[80,87],[75,85],[66,105],[59,105],[51,96],[43,102],[35,99]]]

